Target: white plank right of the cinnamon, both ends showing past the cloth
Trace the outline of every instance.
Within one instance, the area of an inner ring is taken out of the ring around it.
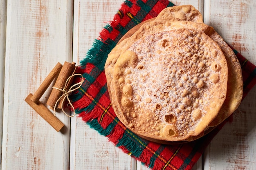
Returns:
[[[73,61],[81,61],[122,0],[75,0]],[[71,124],[71,170],[135,170],[135,161],[80,117]]]

